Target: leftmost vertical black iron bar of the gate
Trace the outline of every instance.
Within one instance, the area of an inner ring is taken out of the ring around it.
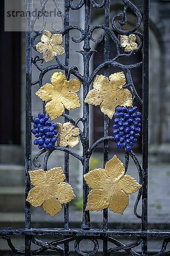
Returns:
[[[31,14],[32,0],[27,0],[27,12],[30,15],[26,18],[26,198],[31,189],[29,171],[31,171]],[[25,206],[25,227],[31,228],[31,205],[26,201]],[[25,236],[25,255],[31,255],[31,237]]]

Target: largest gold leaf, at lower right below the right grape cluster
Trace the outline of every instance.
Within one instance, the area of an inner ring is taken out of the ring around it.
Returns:
[[[94,169],[84,178],[92,188],[86,207],[91,211],[109,207],[111,211],[123,214],[129,204],[128,194],[142,187],[133,177],[125,175],[124,165],[116,155],[106,163],[105,169]]]

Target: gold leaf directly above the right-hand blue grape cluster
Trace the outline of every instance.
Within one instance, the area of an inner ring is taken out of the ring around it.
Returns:
[[[85,102],[99,105],[101,111],[112,119],[117,105],[132,107],[132,95],[128,89],[122,88],[126,79],[123,72],[113,73],[109,79],[97,75],[94,79],[94,89],[88,92]]]

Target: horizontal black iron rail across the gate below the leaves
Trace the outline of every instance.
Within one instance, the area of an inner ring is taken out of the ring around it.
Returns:
[[[133,236],[133,237],[169,237],[170,230],[120,230],[120,229],[109,229],[103,231],[102,229],[63,229],[63,228],[0,228],[0,235],[35,235],[35,236]]]

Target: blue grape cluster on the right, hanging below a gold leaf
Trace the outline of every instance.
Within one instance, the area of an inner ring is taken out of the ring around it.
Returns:
[[[131,151],[133,144],[137,142],[141,131],[142,113],[137,112],[137,107],[117,107],[114,113],[113,135],[117,148],[125,148]]]

